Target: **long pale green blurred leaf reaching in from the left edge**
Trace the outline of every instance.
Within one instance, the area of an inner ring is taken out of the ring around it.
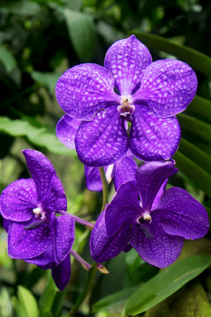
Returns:
[[[0,131],[14,137],[25,136],[32,144],[43,146],[52,153],[77,155],[75,150],[68,149],[57,139],[56,132],[46,127],[37,128],[27,120],[11,120],[0,116]]]

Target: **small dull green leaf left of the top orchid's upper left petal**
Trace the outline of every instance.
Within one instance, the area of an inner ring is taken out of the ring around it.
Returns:
[[[48,87],[49,91],[52,93],[55,89],[56,83],[59,79],[59,77],[62,74],[59,73],[44,73],[44,72],[38,72],[34,70],[30,73],[31,77],[34,79],[34,81],[39,82],[40,84],[43,84]]]

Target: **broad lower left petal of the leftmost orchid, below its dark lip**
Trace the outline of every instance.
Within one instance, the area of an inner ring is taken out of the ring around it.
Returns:
[[[8,254],[11,258],[32,258],[52,247],[52,230],[49,227],[24,230],[34,221],[35,216],[29,221],[11,222],[8,232]]]

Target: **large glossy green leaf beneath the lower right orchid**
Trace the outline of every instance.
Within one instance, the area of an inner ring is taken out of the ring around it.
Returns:
[[[190,256],[165,268],[130,296],[125,315],[140,314],[176,292],[211,264],[211,256]]]

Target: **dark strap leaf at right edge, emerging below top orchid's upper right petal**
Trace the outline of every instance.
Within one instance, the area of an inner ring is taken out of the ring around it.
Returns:
[[[187,111],[200,114],[211,120],[211,101],[195,95],[187,107]]]

